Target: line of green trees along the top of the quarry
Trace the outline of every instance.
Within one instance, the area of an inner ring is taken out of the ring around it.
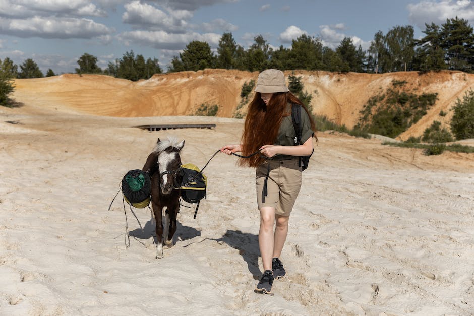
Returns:
[[[398,71],[439,71],[443,69],[474,72],[474,33],[465,19],[447,19],[442,25],[425,24],[421,39],[413,36],[413,27],[395,26],[386,34],[378,31],[370,47],[363,50],[345,37],[332,49],[324,46],[319,37],[306,34],[293,39],[290,48],[277,49],[262,35],[244,49],[236,44],[232,33],[223,33],[215,52],[204,41],[191,41],[179,55],[171,59],[168,72],[197,71],[205,68],[262,71],[324,70],[331,72],[387,73]],[[78,60],[78,74],[105,74],[132,81],[149,79],[162,73],[157,58],[145,60],[143,55],[127,51],[121,58],[109,62],[105,69],[97,66],[97,57],[84,53]],[[36,62],[28,58],[20,66],[6,57],[0,60],[0,93],[11,89],[12,78],[40,78],[55,76],[48,69],[43,74]],[[13,89],[13,88],[12,88]],[[2,101],[0,101],[2,102]]]

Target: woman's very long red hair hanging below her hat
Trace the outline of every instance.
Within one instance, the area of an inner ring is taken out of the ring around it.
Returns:
[[[287,111],[288,103],[300,104],[308,113],[311,122],[311,129],[316,131],[312,115],[308,112],[306,106],[291,92],[274,93],[268,105],[265,105],[261,98],[261,93],[256,92],[252,102],[250,102],[245,118],[244,133],[242,134],[242,154],[249,156],[260,149],[263,145],[273,144],[281,120],[285,116],[291,115]],[[245,167],[257,167],[264,162],[260,155],[254,155],[251,158],[240,158],[239,165]]]

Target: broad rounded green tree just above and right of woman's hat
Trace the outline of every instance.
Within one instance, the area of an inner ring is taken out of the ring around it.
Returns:
[[[323,45],[321,39],[303,34],[291,42],[287,69],[322,69]]]

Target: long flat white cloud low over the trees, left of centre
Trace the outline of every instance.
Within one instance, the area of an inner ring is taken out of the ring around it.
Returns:
[[[209,46],[217,46],[221,35],[215,33],[199,34],[196,32],[172,34],[165,31],[130,31],[117,36],[125,45],[132,43],[151,46],[157,49],[179,50],[184,49],[191,41],[207,42]]]

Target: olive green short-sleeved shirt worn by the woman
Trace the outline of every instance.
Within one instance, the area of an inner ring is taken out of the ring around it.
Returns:
[[[281,120],[280,128],[276,136],[276,140],[273,142],[273,145],[281,146],[294,146],[294,138],[296,137],[296,132],[294,131],[293,122],[291,121],[291,104],[288,104],[286,110],[290,115],[284,116]],[[311,122],[308,117],[308,113],[302,108],[301,109],[301,144],[304,144],[310,137],[314,135],[313,130],[311,130]],[[288,160],[295,159],[298,156],[290,155],[281,155],[277,154],[273,157],[274,160]]]

